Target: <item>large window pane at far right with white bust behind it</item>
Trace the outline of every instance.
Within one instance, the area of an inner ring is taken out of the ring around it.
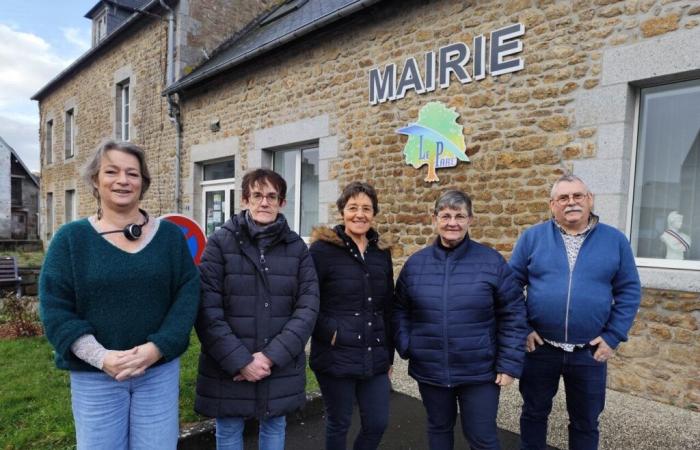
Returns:
[[[700,260],[700,80],[643,89],[632,206],[637,257]]]

